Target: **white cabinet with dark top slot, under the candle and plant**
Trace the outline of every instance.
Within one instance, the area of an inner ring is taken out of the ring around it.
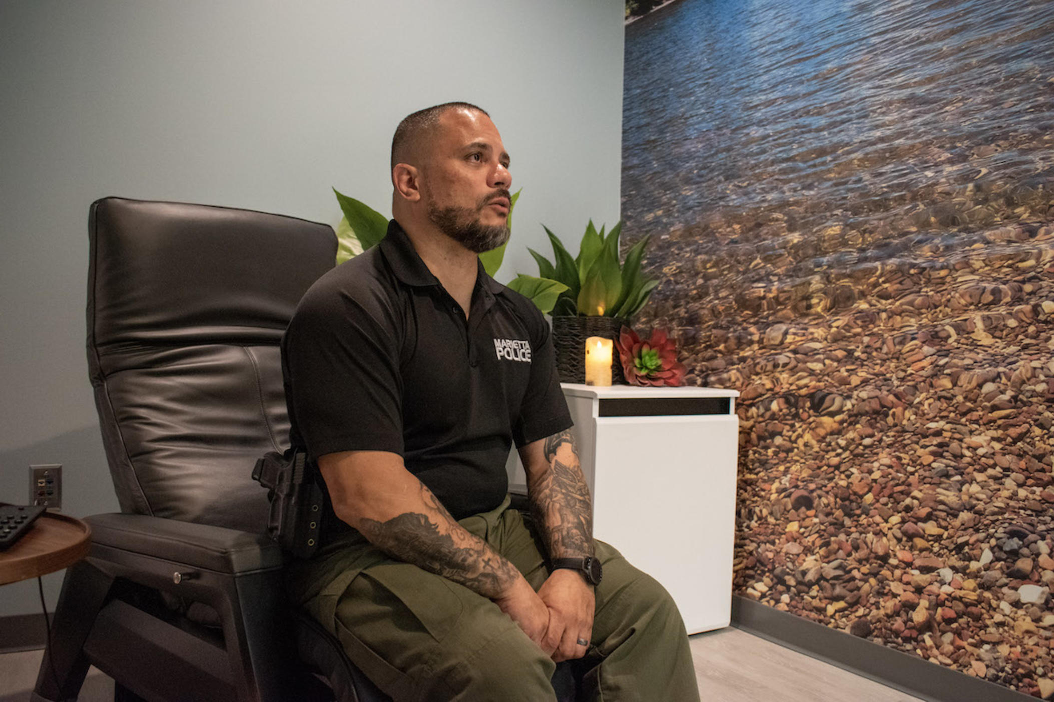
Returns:
[[[666,587],[688,634],[727,626],[739,393],[564,384],[593,536]],[[510,489],[526,493],[515,452]]]

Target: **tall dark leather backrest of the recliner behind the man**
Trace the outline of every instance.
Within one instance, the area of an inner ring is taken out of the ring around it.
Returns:
[[[289,444],[278,344],[333,267],[333,229],[105,198],[89,239],[89,374],[121,510],[265,530],[251,473]]]

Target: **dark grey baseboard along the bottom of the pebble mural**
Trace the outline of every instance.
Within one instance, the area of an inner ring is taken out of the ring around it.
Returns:
[[[1024,702],[1034,697],[838,631],[738,595],[731,624],[926,702]]]

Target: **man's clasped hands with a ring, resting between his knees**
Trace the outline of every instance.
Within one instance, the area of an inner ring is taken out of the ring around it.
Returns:
[[[526,580],[495,600],[527,637],[557,663],[582,658],[592,636],[596,598],[592,587],[573,570],[554,570],[535,594]]]

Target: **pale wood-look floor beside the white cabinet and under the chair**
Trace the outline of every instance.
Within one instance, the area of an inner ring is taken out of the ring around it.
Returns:
[[[42,651],[0,656],[0,702],[26,702]],[[691,637],[696,678],[704,702],[917,702],[918,698],[855,676],[736,628]],[[114,683],[95,668],[80,702],[110,702]]]

